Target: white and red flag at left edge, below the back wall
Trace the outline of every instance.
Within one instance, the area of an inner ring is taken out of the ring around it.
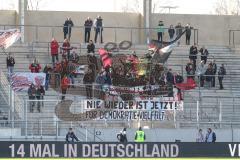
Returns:
[[[0,30],[0,47],[7,49],[21,37],[19,29]]]

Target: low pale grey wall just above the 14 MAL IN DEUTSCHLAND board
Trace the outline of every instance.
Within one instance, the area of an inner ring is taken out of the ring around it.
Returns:
[[[102,140],[106,142],[117,141],[116,135],[121,129],[96,129],[98,135]],[[78,131],[85,133],[85,129],[76,129],[75,133],[77,136],[85,140],[85,138],[80,136]],[[93,130],[92,130],[93,131]],[[100,132],[99,132],[100,131]],[[181,140],[181,142],[196,142],[197,129],[144,129],[146,134],[147,142],[175,142],[175,140]],[[217,142],[239,142],[240,141],[240,129],[213,129],[216,133]],[[136,129],[127,129],[127,138],[129,142],[134,141]],[[66,135],[67,130],[61,130],[60,135]],[[206,129],[203,129],[204,136],[206,134]],[[93,140],[93,134],[88,135],[89,139]],[[98,139],[96,138],[96,141]]]

